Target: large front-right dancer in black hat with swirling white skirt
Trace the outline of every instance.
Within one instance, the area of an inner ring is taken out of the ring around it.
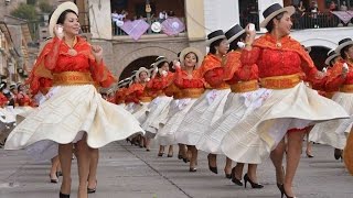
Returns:
[[[246,28],[248,36],[240,56],[242,64],[257,64],[260,86],[270,94],[256,111],[247,114],[223,139],[223,144],[229,145],[239,141],[239,134],[257,134],[243,136],[243,141],[254,141],[258,136],[261,140],[260,144],[249,147],[248,153],[244,151],[244,154],[255,152],[263,158],[270,153],[276,168],[277,186],[286,197],[295,197],[292,180],[299,165],[306,128],[313,122],[347,117],[338,103],[319,96],[303,84],[302,73],[312,82],[320,81],[324,75],[318,72],[300,43],[289,36],[292,13],[293,7],[282,8],[275,3],[267,8],[260,26],[266,28],[268,33],[257,40],[256,32]],[[284,168],[286,135],[288,151]],[[225,148],[223,151],[232,152]]]

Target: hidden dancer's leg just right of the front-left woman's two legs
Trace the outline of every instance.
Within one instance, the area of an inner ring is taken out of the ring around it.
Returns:
[[[97,168],[99,161],[99,150],[88,148],[89,151],[89,174],[88,174],[88,188],[96,189],[97,187]]]

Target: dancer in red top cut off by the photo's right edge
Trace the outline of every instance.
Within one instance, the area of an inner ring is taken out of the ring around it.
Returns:
[[[335,148],[334,157],[341,158],[342,151],[346,144],[346,134],[352,130],[353,122],[353,41],[344,38],[339,42],[335,50],[342,58],[339,59],[330,69],[327,90],[335,91],[332,97],[333,101],[340,103],[351,116],[349,120],[333,120],[325,123],[317,124],[313,129],[315,132],[311,139],[322,144],[329,144]],[[345,70],[349,70],[346,74]],[[342,74],[343,73],[343,74]]]

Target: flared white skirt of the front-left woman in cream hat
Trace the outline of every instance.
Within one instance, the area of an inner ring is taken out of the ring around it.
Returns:
[[[51,158],[57,155],[57,144],[76,142],[85,133],[88,146],[98,148],[141,132],[131,113],[104,100],[94,86],[61,86],[17,125],[4,147],[20,150],[32,145],[38,155]]]

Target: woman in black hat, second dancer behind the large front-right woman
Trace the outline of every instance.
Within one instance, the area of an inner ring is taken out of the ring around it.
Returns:
[[[224,32],[217,30],[210,33],[207,44],[210,53],[200,66],[200,74],[207,84],[207,90],[193,105],[175,134],[176,142],[189,145],[188,147],[192,151],[190,164],[196,164],[197,150],[195,145],[211,124],[221,118],[227,95],[231,92],[229,86],[223,81],[223,64],[229,50]],[[210,170],[217,174],[216,155],[208,154],[207,158]],[[228,164],[226,175],[231,175],[231,169],[232,164]]]

